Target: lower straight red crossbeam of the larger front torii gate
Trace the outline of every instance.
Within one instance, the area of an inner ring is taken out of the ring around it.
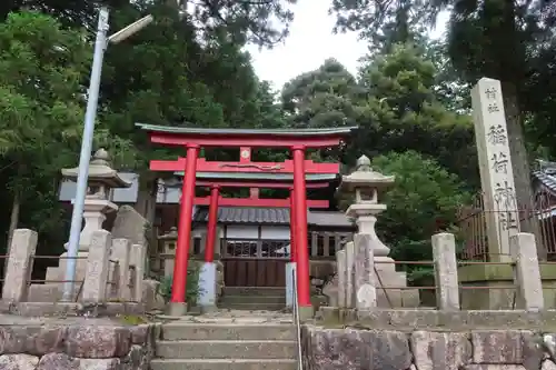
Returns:
[[[180,157],[175,161],[152,160],[151,171],[182,171],[186,167],[186,158]],[[305,173],[338,173],[339,163],[316,163],[311,160],[305,161]],[[207,161],[205,158],[197,159],[197,172],[259,172],[259,173],[294,173],[294,161],[286,160],[277,162],[220,162]]]

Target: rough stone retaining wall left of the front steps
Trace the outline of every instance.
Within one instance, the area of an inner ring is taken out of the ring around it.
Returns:
[[[2,370],[148,370],[155,326],[0,326]]]

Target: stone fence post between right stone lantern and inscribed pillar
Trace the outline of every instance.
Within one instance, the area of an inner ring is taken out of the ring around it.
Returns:
[[[453,233],[437,233],[431,238],[435,263],[436,304],[439,310],[459,310],[456,240]]]

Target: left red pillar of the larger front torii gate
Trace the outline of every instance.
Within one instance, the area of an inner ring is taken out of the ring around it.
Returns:
[[[189,259],[189,243],[191,241],[191,221],[195,199],[195,173],[198,146],[187,148],[187,162],[183,176],[183,194],[179,209],[178,241],[176,243],[176,260],[173,264],[173,280],[171,302],[182,303],[186,301],[187,263]]]

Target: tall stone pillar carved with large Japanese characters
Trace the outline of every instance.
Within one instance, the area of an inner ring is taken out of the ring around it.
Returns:
[[[509,261],[509,238],[519,232],[514,170],[500,81],[481,78],[471,90],[488,254]]]

